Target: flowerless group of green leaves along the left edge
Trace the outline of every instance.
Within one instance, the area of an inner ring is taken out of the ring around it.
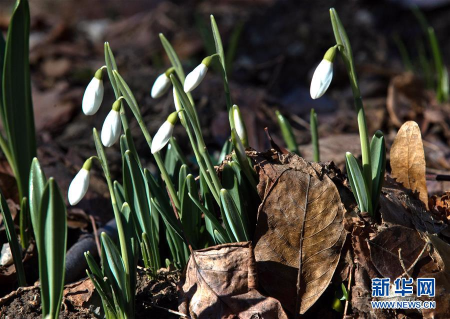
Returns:
[[[29,8],[17,0],[6,41],[0,32],[0,147],[14,173],[20,200],[20,241],[0,190],[0,210],[19,286],[26,285],[22,249],[34,234],[38,252],[42,317],[57,318],[64,284],[67,218],[55,180],[46,178],[36,156],[28,62]]]

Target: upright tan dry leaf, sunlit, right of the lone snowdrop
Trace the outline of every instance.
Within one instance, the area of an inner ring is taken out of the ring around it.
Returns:
[[[390,148],[392,177],[412,191],[428,208],[428,191],[425,180],[425,154],[420,128],[414,121],[401,125]]]

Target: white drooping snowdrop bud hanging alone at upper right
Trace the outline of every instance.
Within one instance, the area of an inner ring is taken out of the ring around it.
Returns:
[[[333,61],[336,55],[337,46],[331,46],[317,65],[311,79],[309,93],[313,99],[322,96],[328,89],[333,77]]]

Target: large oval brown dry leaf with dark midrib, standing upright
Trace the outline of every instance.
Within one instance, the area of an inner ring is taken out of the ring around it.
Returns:
[[[331,179],[303,158],[272,153],[253,159],[263,198],[254,240],[260,283],[289,311],[304,313],[336,269],[345,209]]]

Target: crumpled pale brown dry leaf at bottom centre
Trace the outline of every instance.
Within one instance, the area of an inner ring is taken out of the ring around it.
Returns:
[[[178,310],[192,318],[287,319],[278,300],[257,290],[251,242],[193,251],[178,283]]]

